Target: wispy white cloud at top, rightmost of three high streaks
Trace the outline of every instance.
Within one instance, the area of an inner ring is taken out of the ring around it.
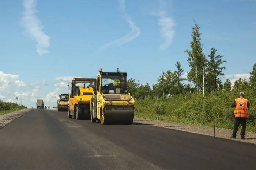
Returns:
[[[158,16],[160,17],[158,20],[158,25],[161,26],[160,33],[161,36],[164,38],[164,43],[159,46],[161,50],[167,49],[170,44],[172,43],[172,39],[176,33],[174,31],[174,27],[177,25],[172,17],[169,17],[165,9],[165,2],[160,1],[161,11],[159,12]]]

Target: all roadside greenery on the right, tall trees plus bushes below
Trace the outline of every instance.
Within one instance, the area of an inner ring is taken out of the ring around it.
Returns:
[[[132,78],[127,80],[128,92],[136,100],[135,116],[233,129],[234,108],[231,108],[231,103],[243,91],[250,104],[246,131],[256,132],[256,63],[249,82],[242,78],[233,86],[229,79],[222,82],[227,61],[214,47],[206,57],[200,36],[200,27],[195,21],[191,49],[184,51],[190,67],[187,77],[182,76],[184,70],[177,61],[176,70],[163,71],[152,88],[148,83],[143,85]],[[189,83],[184,84],[185,80]]]

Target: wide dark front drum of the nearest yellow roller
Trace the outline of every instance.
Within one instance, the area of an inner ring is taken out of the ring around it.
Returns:
[[[125,124],[133,123],[134,106],[105,106],[102,113],[104,121],[101,124]]]

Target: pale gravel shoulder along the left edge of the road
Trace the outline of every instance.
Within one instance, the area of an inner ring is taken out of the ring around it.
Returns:
[[[11,123],[15,119],[23,116],[26,112],[29,112],[31,108],[25,108],[19,111],[10,112],[7,114],[0,115],[0,129]]]

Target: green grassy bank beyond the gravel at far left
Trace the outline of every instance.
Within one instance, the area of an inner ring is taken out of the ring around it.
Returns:
[[[14,111],[19,111],[25,108],[27,107],[23,105],[18,105],[16,103],[0,101],[0,115],[7,114]]]

